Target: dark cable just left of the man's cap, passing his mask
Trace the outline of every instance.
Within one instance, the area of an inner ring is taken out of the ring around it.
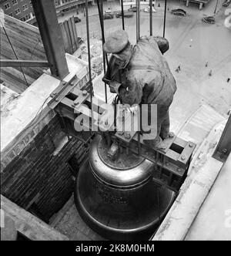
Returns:
[[[101,33],[102,33],[102,45],[105,42],[105,36],[104,36],[104,24],[103,24],[103,5],[102,5],[102,0],[100,0],[100,5],[99,5],[99,0],[96,0],[97,2],[97,7],[98,7],[98,12],[99,12],[99,22],[101,26]],[[105,52],[103,52],[102,49],[102,62],[103,62],[103,72],[105,74],[105,62],[107,63],[107,66],[109,66],[109,60],[108,57],[106,56]],[[104,83],[105,87],[105,103],[108,103],[108,96],[107,96],[107,85]]]

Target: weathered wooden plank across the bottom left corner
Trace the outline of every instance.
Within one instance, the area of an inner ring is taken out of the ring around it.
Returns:
[[[1,210],[12,217],[16,229],[33,241],[68,241],[69,238],[50,227],[38,217],[25,211],[1,195]]]

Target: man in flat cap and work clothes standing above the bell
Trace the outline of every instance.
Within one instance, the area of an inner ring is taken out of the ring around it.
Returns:
[[[144,140],[156,149],[166,148],[169,106],[176,92],[176,81],[163,56],[168,49],[169,42],[160,36],[143,36],[131,45],[123,30],[112,32],[103,45],[104,52],[112,54],[103,77],[111,93],[117,93],[122,104],[157,105],[156,136]]]

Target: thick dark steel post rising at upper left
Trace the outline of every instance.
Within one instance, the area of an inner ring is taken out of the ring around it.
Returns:
[[[54,0],[32,0],[32,5],[52,76],[63,79],[69,73],[69,69],[55,12],[55,2]]]

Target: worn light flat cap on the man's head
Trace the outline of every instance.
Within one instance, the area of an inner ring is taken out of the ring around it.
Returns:
[[[129,42],[129,35],[122,29],[112,32],[102,47],[104,52],[116,53],[122,51]]]

